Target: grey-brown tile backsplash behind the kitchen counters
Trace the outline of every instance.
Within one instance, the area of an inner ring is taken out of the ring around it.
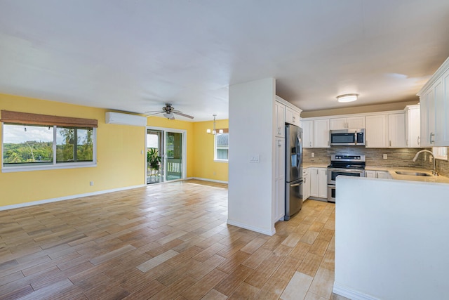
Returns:
[[[424,168],[432,169],[429,162],[429,154],[422,153],[416,162],[412,159],[416,152],[423,150],[422,148],[365,148],[365,147],[330,147],[330,148],[304,148],[304,164],[330,164],[330,155],[333,154],[349,154],[349,155],[366,155],[366,165],[375,167],[408,167],[408,168]],[[429,148],[428,150],[431,150]],[[311,157],[311,153],[315,157]],[[387,155],[387,159],[383,159],[383,155]],[[443,176],[449,176],[449,163],[444,160],[436,160],[436,169]]]

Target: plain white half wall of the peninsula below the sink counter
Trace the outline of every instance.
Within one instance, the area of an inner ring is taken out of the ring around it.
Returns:
[[[337,177],[334,292],[449,299],[449,185]]]

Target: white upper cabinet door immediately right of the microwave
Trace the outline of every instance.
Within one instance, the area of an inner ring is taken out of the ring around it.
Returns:
[[[366,116],[366,148],[387,148],[387,116]]]

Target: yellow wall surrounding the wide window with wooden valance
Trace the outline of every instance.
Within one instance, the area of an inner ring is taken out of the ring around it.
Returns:
[[[99,108],[5,94],[0,109],[98,119],[97,167],[0,173],[0,207],[145,184],[143,127],[105,124]]]

